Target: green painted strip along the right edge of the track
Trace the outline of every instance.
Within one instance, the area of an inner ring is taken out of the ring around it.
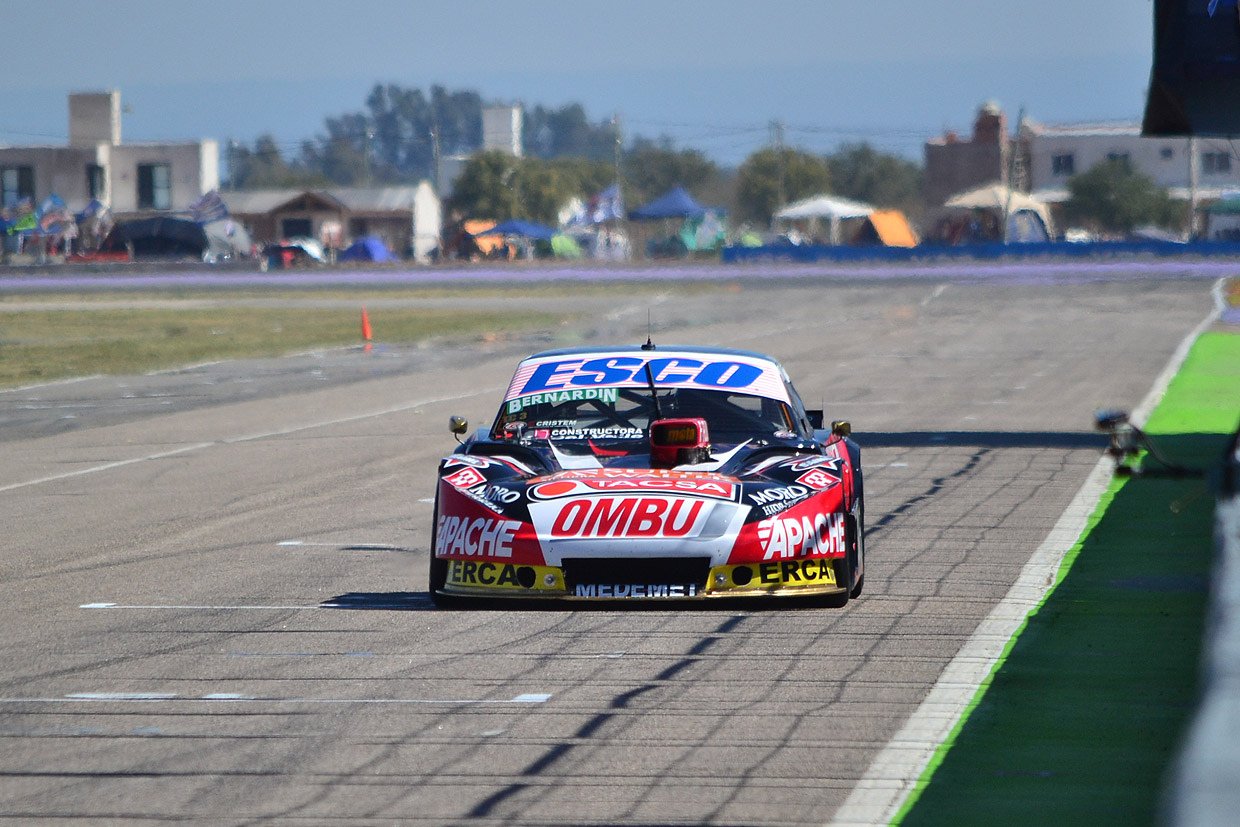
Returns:
[[[1197,341],[1147,424],[1172,461],[1219,461],[1240,418],[1240,335]],[[1213,562],[1203,480],[1112,481],[1040,609],[894,823],[1156,821],[1197,701]]]

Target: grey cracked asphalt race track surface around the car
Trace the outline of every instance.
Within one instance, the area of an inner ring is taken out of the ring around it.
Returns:
[[[1180,267],[641,281],[527,340],[0,393],[0,820],[830,822],[1096,466],[1094,409],[1210,310]],[[864,596],[432,609],[448,415],[647,310],[853,422]]]

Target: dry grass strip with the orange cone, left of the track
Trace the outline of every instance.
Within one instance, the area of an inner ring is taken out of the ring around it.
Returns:
[[[549,312],[399,306],[376,307],[368,316],[376,341],[386,343],[556,329],[570,319]],[[278,356],[361,341],[360,305],[350,309],[74,307],[7,312],[0,305],[0,387],[95,373],[139,373],[223,358]]]

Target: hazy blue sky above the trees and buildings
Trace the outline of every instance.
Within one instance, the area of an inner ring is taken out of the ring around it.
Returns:
[[[125,141],[293,154],[376,83],[440,84],[580,103],[723,165],[773,122],[807,151],[911,160],[987,100],[1013,124],[1136,122],[1153,45],[1151,0],[0,0],[0,144],[66,143],[68,93],[115,88]]]

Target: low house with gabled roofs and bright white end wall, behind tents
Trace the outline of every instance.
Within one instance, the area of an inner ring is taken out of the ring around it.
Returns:
[[[305,237],[345,248],[373,236],[398,255],[427,260],[439,248],[439,197],[417,186],[238,190],[221,193],[228,213],[255,242]]]

